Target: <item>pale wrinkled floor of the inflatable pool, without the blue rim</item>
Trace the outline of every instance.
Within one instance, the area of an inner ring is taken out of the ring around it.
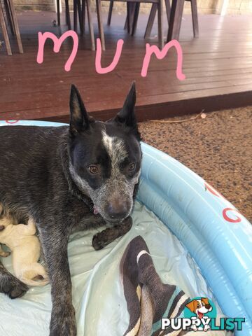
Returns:
[[[194,260],[181,242],[143,205],[136,203],[132,230],[100,251],[92,248],[97,231],[76,232],[69,239],[69,265],[73,283],[78,336],[123,336],[130,325],[120,260],[134,237],[144,237],[162,283],[181,288],[189,297],[209,297],[221,314]],[[4,265],[13,271],[11,258]],[[64,288],[62,288],[64,290]],[[50,285],[31,287],[24,297],[10,300],[0,294],[1,336],[46,336],[49,334]],[[196,332],[192,335],[200,335]],[[204,336],[209,332],[202,333]],[[215,336],[223,333],[214,332]]]

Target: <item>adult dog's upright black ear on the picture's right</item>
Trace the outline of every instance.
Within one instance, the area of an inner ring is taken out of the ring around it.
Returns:
[[[122,123],[128,127],[137,128],[137,118],[135,115],[134,107],[136,104],[136,84],[132,83],[132,87],[130,88],[130,92],[125,99],[125,103],[123,104],[123,109],[118,112],[116,115],[116,122]]]

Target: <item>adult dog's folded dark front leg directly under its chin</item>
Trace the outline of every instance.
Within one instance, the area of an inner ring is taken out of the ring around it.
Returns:
[[[132,228],[132,218],[127,217],[123,223],[107,228],[102,232],[98,232],[92,239],[92,246],[95,250],[100,250],[104,246],[110,244],[116,238],[125,235]]]

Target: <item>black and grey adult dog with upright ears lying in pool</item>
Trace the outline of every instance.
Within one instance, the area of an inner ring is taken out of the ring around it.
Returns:
[[[67,242],[71,232],[106,223],[95,235],[104,247],[132,226],[141,171],[133,83],[123,109],[102,123],[91,118],[71,87],[70,126],[0,127],[0,202],[36,221],[52,286],[50,336],[76,335]],[[27,286],[0,262],[0,292],[20,297]]]

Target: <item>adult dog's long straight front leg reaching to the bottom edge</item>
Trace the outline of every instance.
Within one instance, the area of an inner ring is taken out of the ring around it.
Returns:
[[[39,225],[43,255],[52,285],[50,336],[76,336],[76,318],[72,304],[71,276],[67,258],[69,231],[65,223]],[[70,226],[70,225],[69,225]]]

